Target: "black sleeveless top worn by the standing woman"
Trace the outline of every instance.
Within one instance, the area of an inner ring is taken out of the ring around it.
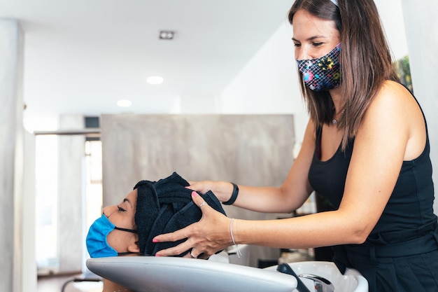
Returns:
[[[321,133],[322,129],[318,128],[316,151],[309,169],[309,183],[316,193],[329,200],[334,209],[338,209],[344,194],[354,139],[348,142],[346,151],[341,151],[339,146],[330,160],[321,161],[318,156]],[[434,186],[427,130],[426,134],[423,153],[414,160],[403,162],[388,204],[365,244],[409,240],[406,236],[416,237],[416,230],[437,222],[437,216],[433,212]],[[388,238],[385,238],[386,235],[389,235]]]

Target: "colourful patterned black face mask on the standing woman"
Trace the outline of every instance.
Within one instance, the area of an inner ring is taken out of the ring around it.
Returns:
[[[339,66],[339,43],[330,53],[316,59],[297,60],[298,70],[303,81],[313,91],[323,91],[337,88],[341,83]]]

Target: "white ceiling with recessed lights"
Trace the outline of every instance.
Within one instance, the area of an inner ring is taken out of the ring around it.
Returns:
[[[27,116],[168,112],[211,98],[285,21],[291,0],[0,0],[24,31]],[[160,30],[174,30],[160,41]],[[164,77],[148,85],[148,76]]]

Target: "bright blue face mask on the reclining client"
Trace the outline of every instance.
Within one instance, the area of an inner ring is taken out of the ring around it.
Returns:
[[[105,214],[102,214],[102,216],[94,221],[94,223],[92,223],[90,226],[87,239],[85,240],[87,243],[88,253],[90,253],[92,258],[104,258],[107,256],[120,256],[122,254],[126,254],[118,253],[106,241],[106,237],[108,236],[109,232],[113,231],[114,229],[137,233],[137,230],[116,227],[113,223],[111,223],[111,221],[109,221]]]

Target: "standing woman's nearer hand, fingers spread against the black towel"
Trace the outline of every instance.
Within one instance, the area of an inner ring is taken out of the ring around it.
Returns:
[[[155,256],[175,256],[191,249],[185,257],[209,258],[232,244],[230,219],[211,208],[195,191],[192,192],[192,200],[202,211],[201,220],[181,230],[154,237],[153,242],[176,242],[187,238],[177,246],[158,251]]]

